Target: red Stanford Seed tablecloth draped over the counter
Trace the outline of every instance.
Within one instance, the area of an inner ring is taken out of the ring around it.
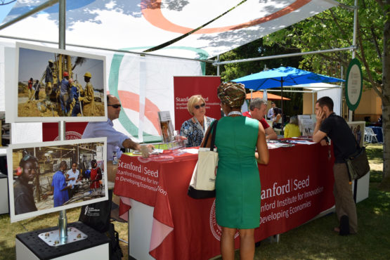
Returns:
[[[256,241],[284,233],[333,206],[329,149],[315,144],[269,150],[269,164],[259,164],[261,224]],[[209,259],[220,254],[214,198],[187,195],[196,162],[197,155],[188,153],[146,160],[123,155],[119,162],[114,193],[155,207],[150,255],[156,259]],[[119,212],[129,209],[121,203]]]

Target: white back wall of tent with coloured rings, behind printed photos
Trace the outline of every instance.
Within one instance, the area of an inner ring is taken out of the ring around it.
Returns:
[[[42,45],[53,47],[52,44]],[[15,49],[15,44],[0,42],[0,46],[10,46],[9,48]],[[106,57],[108,92],[117,96],[122,104],[119,119],[114,120],[115,129],[133,137],[135,141],[161,141],[157,112],[169,111],[171,118],[174,119],[174,76],[202,75],[201,62],[195,60],[143,57],[131,53],[113,53],[91,48],[67,47],[67,49]],[[4,48],[0,48],[0,51],[2,50]],[[8,50],[8,53],[12,51]],[[14,56],[15,53],[6,58],[12,60],[15,59]],[[6,66],[6,60],[0,61],[0,75],[7,72],[7,78],[10,79],[8,85],[12,85],[9,87],[17,87],[17,83],[11,80],[14,78],[14,70],[9,67],[7,70]],[[4,93],[5,84],[4,77],[1,77],[0,93]],[[4,96],[1,96],[0,109],[5,110],[6,113],[11,112],[4,105]],[[19,123],[13,124],[12,127],[14,128],[12,140],[20,143],[22,141],[19,140],[22,138],[20,131],[28,129],[30,125]],[[29,134],[24,136],[28,137]],[[38,136],[41,138],[41,133]]]

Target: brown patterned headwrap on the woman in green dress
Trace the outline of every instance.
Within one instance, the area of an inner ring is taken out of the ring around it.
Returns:
[[[218,98],[230,108],[240,108],[245,101],[247,93],[241,83],[221,83],[217,89]]]

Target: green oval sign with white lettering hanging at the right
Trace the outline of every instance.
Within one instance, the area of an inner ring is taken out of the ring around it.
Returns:
[[[363,92],[362,67],[357,58],[351,60],[346,72],[345,99],[349,110],[356,110]]]

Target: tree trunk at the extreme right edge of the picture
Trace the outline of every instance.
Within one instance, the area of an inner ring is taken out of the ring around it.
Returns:
[[[388,1],[386,1],[387,3]],[[390,188],[390,10],[384,10],[382,56],[382,129],[383,129],[383,188]]]

